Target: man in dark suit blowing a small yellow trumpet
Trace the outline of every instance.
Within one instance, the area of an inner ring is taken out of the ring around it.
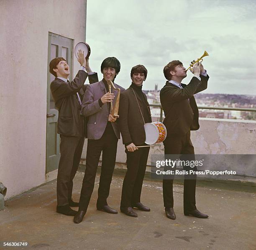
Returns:
[[[198,130],[198,108],[194,94],[207,88],[207,75],[202,64],[195,63],[192,73],[194,76],[188,85],[182,84],[187,77],[186,69],[180,61],[171,61],[164,67],[164,76],[168,80],[160,91],[160,101],[164,110],[164,125],[167,129],[167,138],[164,140],[165,155],[181,155],[180,160],[195,161],[195,151],[190,140],[190,130]],[[166,156],[175,160],[175,156]],[[184,170],[196,171],[197,168],[183,166]],[[172,168],[175,172],[175,167]],[[196,175],[184,176],[184,215],[198,218],[207,218],[196,208],[195,202]],[[173,210],[173,176],[163,179],[163,196],[166,216],[175,219]]]

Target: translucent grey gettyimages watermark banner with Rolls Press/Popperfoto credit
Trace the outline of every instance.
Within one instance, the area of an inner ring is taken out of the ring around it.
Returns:
[[[151,155],[153,179],[256,179],[256,155]]]

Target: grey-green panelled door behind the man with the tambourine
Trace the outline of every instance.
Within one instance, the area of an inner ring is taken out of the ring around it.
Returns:
[[[70,76],[73,76],[73,40],[49,32],[48,39],[48,73],[47,73],[47,115],[46,115],[46,173],[58,168],[59,165],[59,143],[60,137],[57,134],[58,110],[54,105],[51,96],[50,84],[54,76],[49,73],[49,63],[55,57],[64,57],[69,64]]]

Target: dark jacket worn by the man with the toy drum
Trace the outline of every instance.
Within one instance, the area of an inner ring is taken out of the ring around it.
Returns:
[[[141,111],[143,110],[144,102],[138,96],[136,91],[134,91],[138,99]],[[132,87],[130,86],[124,92],[120,94],[120,104],[119,104],[119,119],[118,125],[123,138],[123,144],[134,143],[136,146],[143,145],[146,140],[146,134],[144,129],[144,122],[141,117],[141,112],[138,107],[136,97],[134,96]],[[149,104],[147,101],[146,94],[143,93],[144,100],[146,101],[148,116],[151,120],[151,113]],[[145,118],[144,118],[145,120]]]

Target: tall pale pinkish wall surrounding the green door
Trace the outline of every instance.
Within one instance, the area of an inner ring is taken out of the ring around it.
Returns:
[[[0,182],[7,196],[46,181],[48,32],[84,41],[85,0],[0,1]],[[74,72],[79,68],[74,60]]]

